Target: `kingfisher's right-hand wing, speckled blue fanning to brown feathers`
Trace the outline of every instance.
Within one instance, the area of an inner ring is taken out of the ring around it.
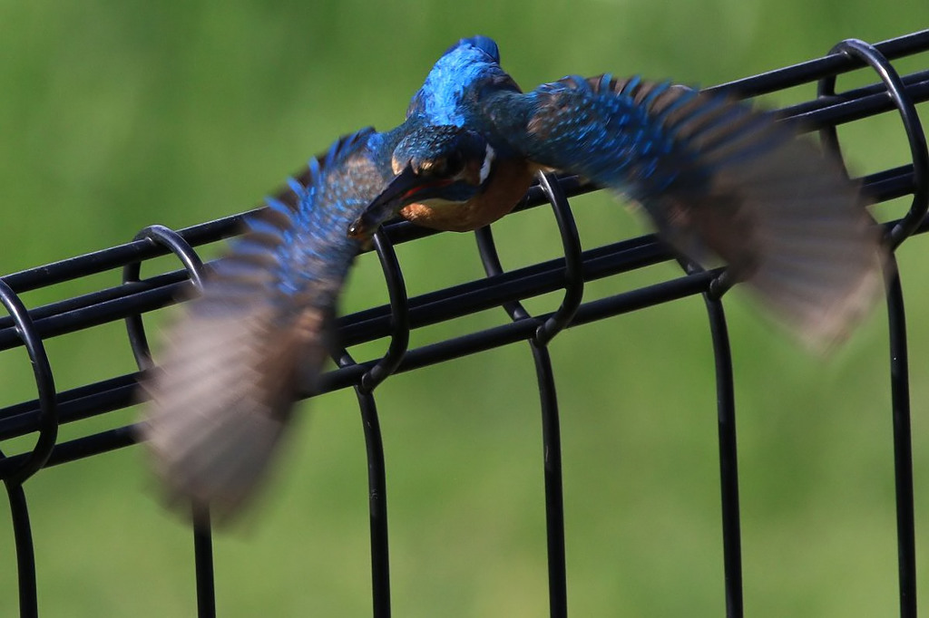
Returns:
[[[881,290],[857,185],[770,113],[609,75],[505,97],[519,124],[498,132],[513,148],[641,203],[674,248],[725,260],[811,347],[843,339]]]

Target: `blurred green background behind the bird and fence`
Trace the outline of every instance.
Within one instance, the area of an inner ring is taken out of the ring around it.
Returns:
[[[927,23],[926,3],[873,0],[0,0],[0,272],[124,242],[144,225],[180,227],[252,207],[336,135],[400,122],[432,62],[461,36],[495,37],[504,67],[525,87],[602,71],[717,84],[817,57],[847,37],[880,41]],[[901,66],[924,69],[929,57]],[[853,75],[840,85],[870,80]],[[770,102],[812,94],[807,87]],[[909,161],[892,115],[842,135],[860,174]],[[899,213],[905,202],[882,212]],[[575,204],[585,247],[645,229],[608,196]],[[554,225],[538,210],[496,226],[508,267],[557,253]],[[480,274],[470,236],[413,244],[400,249],[412,294]],[[913,238],[898,253],[910,317],[918,534],[929,514],[927,250],[925,238]],[[360,260],[345,312],[384,302],[375,262]],[[662,264],[597,282],[587,298],[675,275]],[[45,303],[118,277],[25,298]],[[892,615],[883,308],[824,360],[732,296],[746,614]],[[546,297],[530,307],[557,303]],[[147,319],[153,326],[163,318]],[[503,321],[490,312],[414,333],[413,343]],[[133,368],[119,324],[47,345],[59,389]],[[383,341],[355,352],[368,358],[382,349]],[[572,615],[723,615],[713,357],[700,299],[574,328],[552,349]],[[34,397],[21,350],[0,354],[0,391],[3,406]],[[541,430],[527,346],[397,376],[378,401],[395,615],[546,615]],[[366,468],[353,395],[322,396],[307,408],[262,508],[216,537],[222,616],[370,615]],[[2,448],[30,444],[32,437]],[[27,484],[43,615],[193,615],[190,532],[161,509],[144,464],[141,449],[124,449]],[[16,612],[17,587],[9,516],[0,511],[6,616]],[[924,534],[919,540],[926,601]]]

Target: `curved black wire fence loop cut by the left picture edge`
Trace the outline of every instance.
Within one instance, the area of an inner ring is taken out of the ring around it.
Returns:
[[[55,448],[59,427],[57,395],[52,367],[48,363],[46,346],[35,330],[33,318],[29,315],[29,311],[20,300],[19,295],[3,279],[0,279],[0,303],[3,303],[16,323],[16,332],[33,365],[35,389],[38,392],[39,414],[37,426],[39,437],[36,439],[29,457],[4,479],[8,484],[22,484],[46,465],[52,449]]]

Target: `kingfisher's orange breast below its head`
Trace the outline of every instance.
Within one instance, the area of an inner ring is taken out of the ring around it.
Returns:
[[[497,161],[483,191],[464,203],[410,204],[400,215],[416,225],[469,232],[489,225],[513,210],[532,182],[536,167],[529,161]]]

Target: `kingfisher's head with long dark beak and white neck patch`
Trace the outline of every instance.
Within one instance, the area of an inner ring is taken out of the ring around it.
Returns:
[[[483,136],[451,125],[413,129],[394,148],[394,178],[354,223],[350,238],[371,238],[410,204],[461,205],[485,187],[495,152]]]

